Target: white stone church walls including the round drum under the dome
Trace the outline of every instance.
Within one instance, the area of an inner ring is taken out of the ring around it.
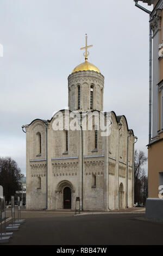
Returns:
[[[94,71],[79,71],[68,77],[68,104],[70,109],[78,107],[80,85],[80,106],[90,110],[90,87],[93,86],[93,108],[103,109],[104,78]],[[63,111],[62,111],[63,112]],[[98,112],[97,112],[98,113]],[[54,117],[55,118],[55,117]],[[68,131],[68,150],[66,150],[66,131],[54,131],[48,121],[48,209],[63,209],[63,191],[71,188],[72,209],[75,199],[82,199],[82,132]],[[95,119],[93,120],[95,125]],[[126,119],[121,118],[120,154],[118,155],[119,126],[116,116],[111,113],[111,134],[109,138],[97,131],[83,131],[83,202],[86,210],[109,210],[118,208],[118,190],[123,184],[123,207],[127,206],[127,136]],[[27,208],[46,208],[46,127],[37,119],[27,129]],[[37,133],[41,134],[41,154],[38,153]],[[133,136],[129,137],[129,180],[128,205],[132,206],[132,165]],[[118,157],[120,162],[118,161]],[[119,172],[119,181],[118,181]],[[38,182],[41,179],[41,188]],[[109,190],[109,191],[108,191]]]

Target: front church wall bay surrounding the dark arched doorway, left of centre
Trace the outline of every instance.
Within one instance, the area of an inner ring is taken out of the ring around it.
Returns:
[[[71,121],[71,120],[70,120]],[[63,188],[57,191],[59,182],[71,182],[74,200],[79,196],[79,132],[68,131],[68,151],[66,151],[66,131],[53,131],[49,125],[48,139],[48,209],[63,209]]]

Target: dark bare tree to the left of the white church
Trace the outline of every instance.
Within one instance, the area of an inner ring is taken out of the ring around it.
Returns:
[[[21,190],[21,169],[11,157],[0,157],[0,185],[3,186],[5,200],[9,203],[10,197],[17,190]]]

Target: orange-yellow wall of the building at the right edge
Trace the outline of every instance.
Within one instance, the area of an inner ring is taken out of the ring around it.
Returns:
[[[148,197],[158,198],[159,173],[162,172],[163,151],[163,58],[159,57],[159,45],[163,42],[163,0],[152,13],[151,27],[153,31],[153,98],[152,98],[152,141],[148,145]],[[160,84],[160,86],[158,86]]]

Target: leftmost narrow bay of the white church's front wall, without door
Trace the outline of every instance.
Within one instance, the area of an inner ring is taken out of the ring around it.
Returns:
[[[37,133],[41,134],[41,154],[38,154]],[[27,168],[26,168],[26,208],[39,209],[46,207],[45,194],[45,161],[46,158],[46,133],[45,125],[41,120],[35,120],[30,127],[26,127],[26,148],[27,148]],[[36,160],[36,161],[35,161]],[[32,162],[31,162],[32,161]],[[37,178],[41,177],[41,189],[37,190]],[[39,199],[39,200],[38,200]]]

